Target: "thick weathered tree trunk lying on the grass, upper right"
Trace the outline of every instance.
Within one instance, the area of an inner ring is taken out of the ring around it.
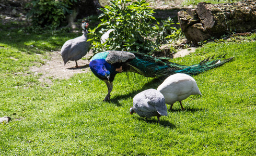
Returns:
[[[197,44],[230,32],[256,29],[256,2],[248,0],[216,5],[201,2],[196,9],[179,11],[178,19],[186,38]]]

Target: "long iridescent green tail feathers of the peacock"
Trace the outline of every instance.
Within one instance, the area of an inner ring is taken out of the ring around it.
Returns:
[[[135,58],[129,62],[131,72],[141,74],[145,77],[169,76],[175,73],[185,73],[189,75],[201,73],[206,70],[221,66],[230,61],[234,57],[222,60],[225,55],[220,55],[214,60],[213,57],[208,57],[198,64],[192,66],[184,66],[181,64],[162,61],[158,58],[133,52]]]

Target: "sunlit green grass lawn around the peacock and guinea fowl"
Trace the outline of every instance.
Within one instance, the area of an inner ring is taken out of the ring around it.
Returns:
[[[44,64],[47,53],[77,34],[27,34],[15,23],[1,28],[0,117],[12,121],[0,124],[0,155],[256,154],[255,34],[172,59],[191,65],[212,55],[235,57],[194,75],[203,96],[184,100],[184,111],[175,103],[157,124],[156,117],[131,116],[129,109],[137,93],[161,80],[118,74],[111,102],[102,101],[107,87],[91,72],[41,83],[29,67]]]

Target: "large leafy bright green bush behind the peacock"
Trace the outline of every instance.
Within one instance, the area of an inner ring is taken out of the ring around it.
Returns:
[[[89,30],[89,40],[96,53],[102,50],[149,53],[159,50],[160,44],[168,42],[170,37],[177,39],[174,36],[181,36],[180,30],[170,27],[174,24],[170,18],[161,21],[163,24],[160,26],[153,16],[154,10],[148,7],[145,0],[117,0],[110,3],[100,9],[103,12],[99,16],[101,23]],[[110,33],[109,40],[101,44],[100,37],[110,29],[114,31]]]

